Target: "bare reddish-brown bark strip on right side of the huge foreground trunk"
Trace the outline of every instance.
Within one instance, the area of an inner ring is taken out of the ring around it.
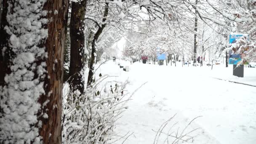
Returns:
[[[68,0],[48,0],[44,9],[47,11],[56,10],[58,13],[48,13],[47,15],[47,18],[52,20],[47,25],[48,38],[45,43],[48,53],[46,64],[49,78],[45,79],[45,94],[40,96],[39,102],[43,105],[49,99],[48,97],[50,99],[44,107],[48,119],[40,117],[43,122],[40,136],[43,138],[43,144],[61,144],[63,65],[65,37],[67,34]],[[54,109],[53,106],[56,108]]]

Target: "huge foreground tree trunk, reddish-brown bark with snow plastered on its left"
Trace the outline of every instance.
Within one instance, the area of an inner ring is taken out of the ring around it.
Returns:
[[[0,86],[0,142],[60,144],[68,1],[3,3],[7,41],[0,48],[8,67]]]

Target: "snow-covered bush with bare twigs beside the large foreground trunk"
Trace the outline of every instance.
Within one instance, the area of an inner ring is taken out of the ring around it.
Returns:
[[[125,108],[124,88],[128,81],[104,83],[107,78],[100,74],[84,93],[69,91],[64,96],[63,144],[104,144],[115,135],[114,123]]]

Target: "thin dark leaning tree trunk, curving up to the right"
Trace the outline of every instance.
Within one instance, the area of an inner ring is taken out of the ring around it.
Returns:
[[[105,9],[104,9],[104,18],[102,19],[102,22],[104,23],[107,20],[108,11],[109,11],[109,3],[105,3]],[[93,83],[93,73],[94,73],[94,67],[93,64],[95,62],[95,54],[96,54],[96,41],[98,40],[99,36],[101,35],[103,29],[106,27],[106,23],[102,24],[101,27],[97,30],[96,34],[93,37],[92,45],[91,45],[91,62],[90,62],[90,69],[88,74],[88,81],[87,81],[87,87],[90,87]]]

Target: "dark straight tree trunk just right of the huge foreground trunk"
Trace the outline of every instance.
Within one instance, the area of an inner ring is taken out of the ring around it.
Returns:
[[[84,90],[85,12],[86,0],[71,3],[69,87],[73,92],[79,90],[80,93]]]

